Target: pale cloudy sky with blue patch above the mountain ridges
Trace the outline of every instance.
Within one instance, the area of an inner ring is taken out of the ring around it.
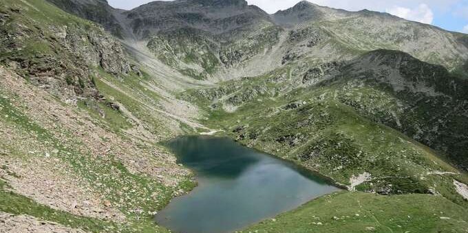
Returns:
[[[107,0],[114,8],[130,10],[151,0]],[[285,10],[300,0],[247,0],[268,13]],[[445,30],[468,34],[468,0],[309,0],[344,10],[375,10],[404,19],[429,23]]]

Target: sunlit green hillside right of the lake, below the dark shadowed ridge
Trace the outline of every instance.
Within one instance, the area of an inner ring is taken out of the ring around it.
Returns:
[[[465,202],[451,185],[452,179],[466,182],[465,175],[427,175],[458,170],[402,133],[361,117],[335,99],[335,91],[319,88],[290,93],[286,98],[253,100],[235,113],[218,110],[206,123],[210,122],[212,129],[225,129],[243,144],[293,160],[340,184],[349,185],[352,175],[368,172],[374,179],[361,190],[379,192],[390,184],[393,193],[429,192],[434,188]],[[283,109],[292,100],[307,104]],[[236,126],[245,129],[231,132]],[[288,140],[278,142],[281,137],[297,137],[300,142],[292,146]]]

